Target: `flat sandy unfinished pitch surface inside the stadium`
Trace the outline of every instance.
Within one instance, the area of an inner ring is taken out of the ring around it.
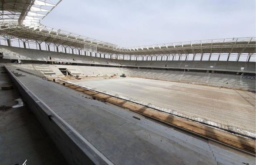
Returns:
[[[96,77],[70,81],[150,104],[196,121],[245,135],[255,135],[253,92],[134,77]]]

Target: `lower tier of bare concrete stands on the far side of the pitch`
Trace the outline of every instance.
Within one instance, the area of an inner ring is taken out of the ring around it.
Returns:
[[[131,77],[150,78],[163,81],[175,81],[183,83],[204,84],[216,87],[225,87],[245,91],[255,91],[255,78],[249,79],[239,74],[218,74],[193,71],[169,71],[153,69],[134,69],[118,67],[91,67],[91,66],[74,66],[74,65],[50,65],[50,64],[7,64],[13,70],[21,70],[36,74],[41,77],[60,77],[63,76],[60,68],[67,69],[76,76],[104,76],[119,75],[125,73]]]

